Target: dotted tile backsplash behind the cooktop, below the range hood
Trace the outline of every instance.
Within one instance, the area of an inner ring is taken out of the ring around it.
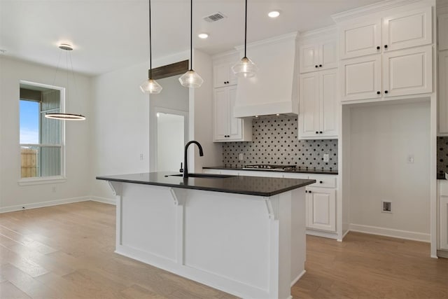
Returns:
[[[297,116],[253,118],[253,139],[223,143],[223,165],[297,165],[302,169],[337,169],[337,139],[297,139]],[[244,156],[238,160],[239,153]],[[330,159],[323,162],[323,154]]]

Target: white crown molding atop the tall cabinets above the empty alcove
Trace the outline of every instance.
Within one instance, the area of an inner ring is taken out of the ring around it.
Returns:
[[[335,13],[331,15],[331,18],[335,22],[344,22],[346,20],[351,20],[354,18],[360,18],[365,15],[370,15],[372,13],[378,13],[379,11],[386,11],[391,8],[397,8],[406,4],[412,4],[416,2],[421,2],[421,0],[385,0],[378,3],[362,6],[360,8],[354,8],[350,11],[344,11],[342,13]]]

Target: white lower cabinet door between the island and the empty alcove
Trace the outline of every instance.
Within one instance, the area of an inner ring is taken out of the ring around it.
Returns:
[[[307,228],[336,231],[336,190],[307,187]]]

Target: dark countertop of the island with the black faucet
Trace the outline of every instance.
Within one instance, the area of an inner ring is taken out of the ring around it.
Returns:
[[[228,176],[225,178],[211,179],[189,177],[188,179],[183,179],[181,176],[169,176],[169,174],[174,173],[147,172],[142,174],[120,174],[97,176],[97,179],[265,197],[316,183],[316,180],[312,179],[282,179],[260,176]]]

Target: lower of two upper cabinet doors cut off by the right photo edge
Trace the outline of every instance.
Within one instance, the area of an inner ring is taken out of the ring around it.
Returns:
[[[448,50],[439,53],[439,133],[448,133]]]

